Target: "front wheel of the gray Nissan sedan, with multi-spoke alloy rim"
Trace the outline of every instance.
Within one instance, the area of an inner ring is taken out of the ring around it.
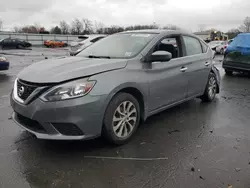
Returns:
[[[136,98],[128,93],[118,93],[106,109],[102,135],[111,144],[123,145],[132,138],[139,122],[140,106]]]

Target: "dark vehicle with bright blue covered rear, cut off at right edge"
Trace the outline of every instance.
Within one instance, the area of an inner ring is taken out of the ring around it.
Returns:
[[[250,73],[250,33],[241,33],[228,45],[222,63],[227,75]]]

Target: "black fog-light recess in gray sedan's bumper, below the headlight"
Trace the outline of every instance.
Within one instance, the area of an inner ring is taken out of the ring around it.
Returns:
[[[72,123],[52,123],[58,132],[66,136],[82,136],[83,132]]]

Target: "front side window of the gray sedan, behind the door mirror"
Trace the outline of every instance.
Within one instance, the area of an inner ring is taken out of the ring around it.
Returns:
[[[162,39],[154,48],[155,51],[167,51],[172,54],[172,59],[180,57],[180,47],[177,37]]]

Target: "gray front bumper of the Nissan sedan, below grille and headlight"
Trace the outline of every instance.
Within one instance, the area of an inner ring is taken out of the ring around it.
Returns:
[[[13,120],[39,139],[85,140],[101,135],[105,96],[90,96],[28,105],[11,95]]]

